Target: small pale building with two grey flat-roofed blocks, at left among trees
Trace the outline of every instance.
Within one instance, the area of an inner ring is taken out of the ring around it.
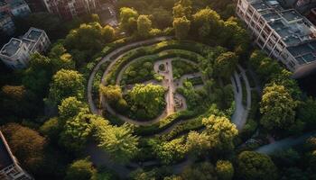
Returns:
[[[7,67],[27,67],[31,54],[35,51],[45,51],[50,44],[51,41],[45,31],[30,28],[21,40],[12,38],[6,43],[0,50],[0,58]]]

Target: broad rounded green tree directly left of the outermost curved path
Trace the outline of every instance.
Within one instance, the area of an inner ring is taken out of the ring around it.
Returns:
[[[52,77],[50,88],[51,103],[59,104],[64,98],[74,96],[82,99],[84,78],[78,71],[61,69]]]

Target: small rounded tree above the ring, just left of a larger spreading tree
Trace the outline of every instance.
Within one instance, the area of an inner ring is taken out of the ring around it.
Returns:
[[[178,40],[186,39],[190,31],[191,21],[183,16],[174,18],[172,24],[175,31],[175,37]]]

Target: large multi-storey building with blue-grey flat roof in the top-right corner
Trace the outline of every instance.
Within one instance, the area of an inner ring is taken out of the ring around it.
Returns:
[[[316,28],[302,14],[276,0],[238,0],[236,11],[258,47],[279,59],[294,78],[316,69]]]

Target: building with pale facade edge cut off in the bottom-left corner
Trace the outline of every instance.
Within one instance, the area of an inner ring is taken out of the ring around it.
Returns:
[[[9,148],[4,135],[0,131],[0,179],[1,180],[33,180],[19,165]]]

